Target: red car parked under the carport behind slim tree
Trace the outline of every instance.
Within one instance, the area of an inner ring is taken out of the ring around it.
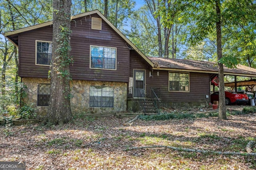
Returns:
[[[219,100],[219,92],[211,94],[211,103]],[[226,105],[230,104],[246,104],[248,103],[248,96],[246,94],[238,94],[236,92],[225,91],[225,102]]]

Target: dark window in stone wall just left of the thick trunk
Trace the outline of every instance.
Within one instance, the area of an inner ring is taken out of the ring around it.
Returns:
[[[37,106],[49,106],[50,84],[38,84]]]

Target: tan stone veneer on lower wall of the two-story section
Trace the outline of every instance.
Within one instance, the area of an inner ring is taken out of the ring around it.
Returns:
[[[26,89],[28,95],[22,101],[34,107],[38,117],[44,117],[48,106],[37,106],[37,88],[38,84],[50,83],[50,80],[23,77],[22,83],[28,87]],[[90,86],[114,86],[114,107],[89,107]],[[70,100],[73,115],[126,111],[127,84],[124,82],[72,80],[70,88],[73,96]]]

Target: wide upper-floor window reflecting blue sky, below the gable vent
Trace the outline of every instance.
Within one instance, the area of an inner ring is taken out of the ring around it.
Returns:
[[[116,48],[91,45],[90,68],[116,70]]]

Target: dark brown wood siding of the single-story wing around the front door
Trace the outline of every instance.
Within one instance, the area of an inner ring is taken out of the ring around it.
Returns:
[[[146,97],[150,96],[150,88],[160,88],[160,99],[162,102],[194,102],[206,103],[210,101],[210,78],[208,73],[190,72],[190,92],[169,92],[168,91],[168,70],[153,70],[152,77],[149,77],[150,67],[143,62],[136,52],[130,52],[130,77],[133,77],[134,69],[146,70]],[[132,95],[129,95],[132,97]]]

